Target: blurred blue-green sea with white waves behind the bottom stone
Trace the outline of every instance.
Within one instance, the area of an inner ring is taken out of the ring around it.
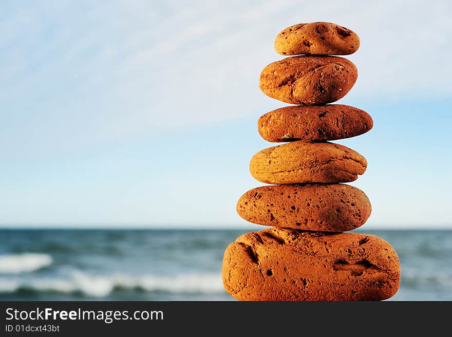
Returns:
[[[246,230],[0,230],[0,300],[230,301],[224,249]],[[365,231],[401,261],[391,300],[452,300],[452,231]]]

